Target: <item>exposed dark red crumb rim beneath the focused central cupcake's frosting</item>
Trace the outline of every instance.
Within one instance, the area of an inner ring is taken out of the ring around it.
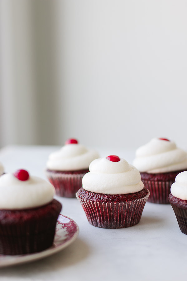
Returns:
[[[95,193],[85,190],[84,188],[81,187],[81,189],[79,189],[79,191],[77,192],[77,196],[81,199],[93,200],[98,202],[125,202],[125,201],[127,202],[127,201],[143,198],[144,196],[148,195],[148,193],[149,191],[145,187],[142,190],[135,193],[117,194],[117,195]]]

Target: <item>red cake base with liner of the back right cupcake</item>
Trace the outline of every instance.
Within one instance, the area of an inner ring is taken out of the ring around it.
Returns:
[[[171,185],[175,182],[175,177],[183,171],[159,174],[140,173],[144,186],[150,191],[147,201],[158,204],[169,204],[168,196]]]

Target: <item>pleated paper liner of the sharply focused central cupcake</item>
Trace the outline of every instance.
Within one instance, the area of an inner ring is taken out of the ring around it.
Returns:
[[[132,201],[101,202],[79,198],[90,224],[101,228],[125,228],[139,223],[143,208],[146,204],[146,195]]]

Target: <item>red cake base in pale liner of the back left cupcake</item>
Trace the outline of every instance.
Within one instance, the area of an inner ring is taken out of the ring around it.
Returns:
[[[82,187],[82,178],[89,169],[78,171],[46,170],[48,180],[54,185],[56,195],[75,198],[75,193]]]

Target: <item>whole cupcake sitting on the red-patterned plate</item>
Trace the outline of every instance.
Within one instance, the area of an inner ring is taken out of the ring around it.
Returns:
[[[46,180],[26,170],[0,177],[0,254],[31,254],[53,244],[62,205]]]

